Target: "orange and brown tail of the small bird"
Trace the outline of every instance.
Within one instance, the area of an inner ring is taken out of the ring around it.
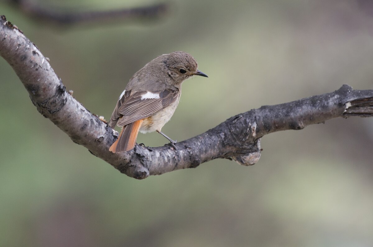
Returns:
[[[118,139],[109,148],[113,153],[125,152],[135,147],[137,134],[144,119],[140,119],[123,127]]]

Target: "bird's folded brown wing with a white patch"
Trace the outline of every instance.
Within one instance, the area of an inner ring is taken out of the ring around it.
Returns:
[[[120,127],[147,118],[166,108],[178,99],[179,91],[166,89],[164,91],[125,91],[117,102],[109,121],[109,126]]]

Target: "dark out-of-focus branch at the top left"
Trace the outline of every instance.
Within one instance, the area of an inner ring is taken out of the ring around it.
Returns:
[[[151,6],[134,7],[118,10],[103,10],[103,11],[72,11],[66,12],[47,7],[43,7],[40,3],[33,0],[7,0],[17,9],[31,18],[54,22],[60,25],[73,25],[83,23],[102,23],[102,22],[125,22],[133,19],[154,19],[163,16],[168,9],[168,4],[157,3]]]

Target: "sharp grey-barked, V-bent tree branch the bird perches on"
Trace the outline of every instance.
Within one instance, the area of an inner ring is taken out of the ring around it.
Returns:
[[[136,145],[126,153],[109,147],[118,133],[75,100],[54,73],[46,57],[18,28],[0,18],[0,55],[12,66],[32,103],[73,142],[128,176],[142,179],[184,168],[195,168],[217,158],[253,165],[260,158],[260,138],[287,129],[303,129],[328,119],[373,115],[373,90],[343,85],[332,93],[313,96],[233,116],[196,137],[171,146]]]

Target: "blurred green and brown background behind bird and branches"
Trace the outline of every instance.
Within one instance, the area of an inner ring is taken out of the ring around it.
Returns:
[[[153,1],[40,0],[104,10]],[[162,129],[179,141],[230,116],[342,84],[373,85],[373,5],[364,0],[170,2],[156,21],[63,28],[0,2],[87,109],[110,118],[129,78],[183,50],[193,78]],[[43,118],[0,59],[0,246],[370,246],[373,119],[333,119],[262,139],[250,167],[213,160],[129,178]],[[162,146],[157,134],[138,143]]]

